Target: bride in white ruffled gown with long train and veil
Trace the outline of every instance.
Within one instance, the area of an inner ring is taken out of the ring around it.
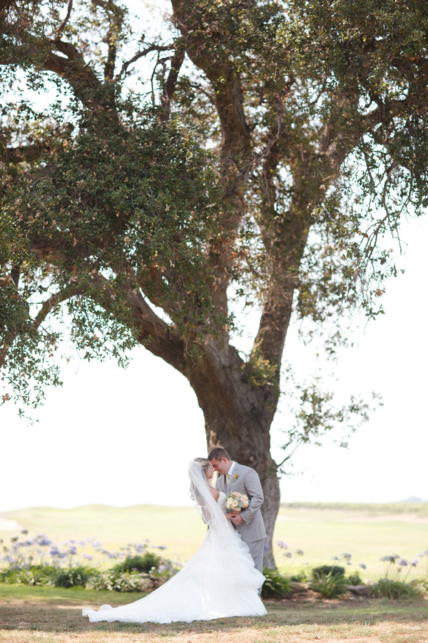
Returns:
[[[225,514],[225,494],[210,487],[213,473],[208,459],[190,462],[190,494],[208,533],[183,569],[134,603],[101,605],[98,612],[86,608],[83,616],[91,622],[172,623],[267,613],[258,596],[265,577],[255,569],[247,544]]]

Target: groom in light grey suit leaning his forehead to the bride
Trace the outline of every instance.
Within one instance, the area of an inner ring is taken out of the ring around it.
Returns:
[[[208,459],[214,471],[220,474],[215,488],[225,494],[233,491],[246,494],[250,504],[230,518],[241,538],[248,544],[255,569],[263,573],[263,553],[265,547],[265,523],[260,507],[263,504],[263,489],[257,472],[230,459],[228,452],[221,447],[211,449]]]

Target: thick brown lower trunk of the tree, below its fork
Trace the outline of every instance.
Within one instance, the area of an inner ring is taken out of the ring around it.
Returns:
[[[220,342],[219,342],[220,344]],[[222,446],[240,464],[253,467],[265,494],[262,507],[267,532],[265,564],[275,569],[272,535],[280,506],[277,465],[270,455],[270,425],[277,407],[276,387],[257,386],[245,372],[236,349],[223,344],[186,372],[205,416],[208,449]],[[223,359],[221,359],[221,357]]]

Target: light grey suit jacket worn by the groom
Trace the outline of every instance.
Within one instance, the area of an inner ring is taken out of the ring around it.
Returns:
[[[263,522],[262,512],[260,512],[260,507],[265,498],[263,497],[263,489],[258,473],[254,469],[244,467],[243,464],[238,464],[237,462],[230,476],[229,487],[226,488],[225,476],[219,477],[215,487],[225,494],[238,491],[240,494],[248,496],[250,504],[247,509],[242,509],[240,512],[243,522],[233,525],[240,532],[243,541],[248,543],[265,538],[265,523]]]

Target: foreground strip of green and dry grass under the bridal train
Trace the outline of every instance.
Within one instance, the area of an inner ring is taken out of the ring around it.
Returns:
[[[81,608],[142,594],[0,585],[1,643],[416,643],[428,641],[427,601],[266,602],[262,618],[161,624],[88,623]]]

